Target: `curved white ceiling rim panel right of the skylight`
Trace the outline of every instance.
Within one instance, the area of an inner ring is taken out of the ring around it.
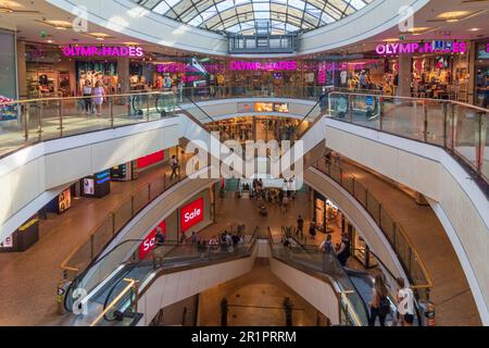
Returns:
[[[402,18],[402,7],[413,13],[429,0],[376,0],[362,10],[334,24],[305,33],[300,37],[298,54],[328,51],[368,39],[397,26]]]

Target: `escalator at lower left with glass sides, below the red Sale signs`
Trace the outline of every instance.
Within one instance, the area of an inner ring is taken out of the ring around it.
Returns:
[[[139,246],[143,240],[126,240],[78,275],[64,297],[67,312],[85,315],[67,315],[70,325],[135,325],[141,318],[137,311],[138,297],[160,276],[188,270],[218,265],[249,258],[253,254],[258,238],[244,235],[242,245],[211,248],[193,245],[164,245],[139,258]],[[158,257],[155,266],[153,258]],[[238,274],[239,275],[239,274]],[[128,289],[128,283],[136,288]],[[86,297],[80,298],[79,289]],[[136,304],[136,306],[134,306]]]

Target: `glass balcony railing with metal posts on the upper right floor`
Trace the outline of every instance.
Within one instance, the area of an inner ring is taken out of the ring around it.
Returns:
[[[439,99],[331,91],[336,120],[443,148],[489,197],[488,109]]]

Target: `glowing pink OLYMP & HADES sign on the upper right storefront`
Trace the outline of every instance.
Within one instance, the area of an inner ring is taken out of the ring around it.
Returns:
[[[432,41],[410,44],[383,44],[375,49],[377,54],[396,55],[402,53],[465,53],[466,42]]]

